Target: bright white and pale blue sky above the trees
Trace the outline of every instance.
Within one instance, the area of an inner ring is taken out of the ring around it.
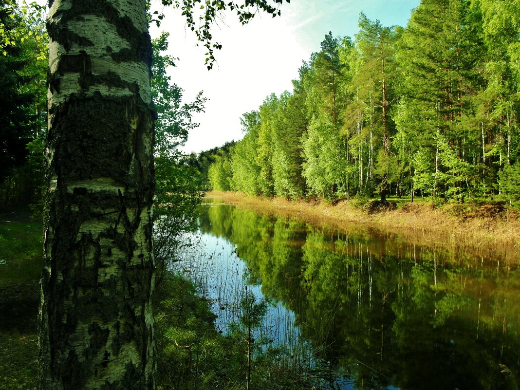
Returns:
[[[258,14],[248,25],[241,25],[231,13],[213,27],[217,62],[208,71],[206,50],[197,47],[193,32],[185,28],[183,17],[166,8],[160,28],[150,28],[152,37],[170,33],[168,54],[178,57],[168,74],[185,90],[185,101],[193,101],[199,91],[208,99],[205,112],[194,116],[200,126],[190,131],[186,153],[200,152],[226,141],[243,137],[242,113],[257,110],[271,93],[292,92],[302,61],[319,51],[329,31],[334,36],[358,32],[359,13],[383,25],[406,26],[411,10],[419,0],[292,0],[280,7],[281,17]]]

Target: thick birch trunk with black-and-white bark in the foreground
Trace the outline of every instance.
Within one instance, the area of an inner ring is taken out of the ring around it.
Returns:
[[[154,388],[145,0],[50,1],[45,390]]]

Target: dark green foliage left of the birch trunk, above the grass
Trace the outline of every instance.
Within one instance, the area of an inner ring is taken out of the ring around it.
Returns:
[[[4,2],[0,41],[4,38],[9,44],[0,43],[0,203],[8,207],[42,195],[48,50],[41,8]]]

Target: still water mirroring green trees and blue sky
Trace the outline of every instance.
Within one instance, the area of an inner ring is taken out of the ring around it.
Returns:
[[[518,389],[516,265],[225,204],[202,208],[192,239],[205,264],[181,266],[203,280],[217,326],[236,317],[229,296],[247,285],[271,302],[274,343],[341,369],[332,387]]]

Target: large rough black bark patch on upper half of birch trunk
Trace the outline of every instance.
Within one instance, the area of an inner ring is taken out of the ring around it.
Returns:
[[[147,130],[139,127],[146,126],[149,110],[137,99],[103,97],[96,93],[89,98],[71,96],[67,103],[55,107],[48,137],[48,145],[55,151],[51,171],[59,166],[59,173],[69,180],[108,176],[121,178],[124,187],[139,183],[142,177],[136,177],[137,172],[132,172],[131,166],[132,162],[137,163],[139,170],[144,160],[139,156],[132,161],[134,129],[126,113],[137,113],[136,132],[142,133]],[[124,110],[122,103],[126,106]],[[149,176],[149,168],[142,169]]]

